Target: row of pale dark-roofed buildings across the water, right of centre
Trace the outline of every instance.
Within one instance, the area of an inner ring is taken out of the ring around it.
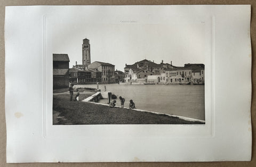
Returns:
[[[145,60],[143,60],[145,62]],[[154,62],[153,62],[154,63]],[[140,62],[135,65],[125,66],[125,82],[143,84],[204,84],[204,64],[185,64],[184,66],[173,66],[162,63],[161,66],[150,66]],[[142,65],[142,66],[141,66]],[[127,67],[131,68],[127,70]],[[142,80],[143,79],[143,80]]]

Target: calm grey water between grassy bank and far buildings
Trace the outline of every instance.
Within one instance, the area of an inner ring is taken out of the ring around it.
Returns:
[[[99,89],[104,91],[104,84]],[[76,87],[97,88],[97,85]],[[147,111],[174,114],[205,120],[204,85],[118,85],[106,84],[107,91],[125,98],[125,107],[130,99],[136,108]],[[100,103],[107,103],[102,100]],[[117,106],[121,106],[117,99]]]

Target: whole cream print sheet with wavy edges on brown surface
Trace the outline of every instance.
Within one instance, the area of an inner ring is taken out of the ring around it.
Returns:
[[[250,5],[7,6],[7,162],[250,161],[250,19]]]

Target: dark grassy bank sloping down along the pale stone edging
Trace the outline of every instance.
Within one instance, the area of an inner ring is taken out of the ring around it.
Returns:
[[[81,93],[80,99],[92,94]],[[88,102],[69,102],[68,93],[53,95],[53,115],[58,115],[58,118],[53,118],[53,124],[202,124],[164,114],[110,108]]]

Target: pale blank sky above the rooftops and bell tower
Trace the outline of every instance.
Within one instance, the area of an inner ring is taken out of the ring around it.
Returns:
[[[76,15],[48,18],[46,38],[53,53],[69,55],[71,68],[77,61],[82,64],[82,43],[87,38],[91,44],[91,63],[101,61],[124,71],[125,63],[133,64],[144,59],[155,63],[205,62],[205,24],[202,22],[142,22],[102,23],[86,20]],[[133,18],[133,20],[135,20]]]

